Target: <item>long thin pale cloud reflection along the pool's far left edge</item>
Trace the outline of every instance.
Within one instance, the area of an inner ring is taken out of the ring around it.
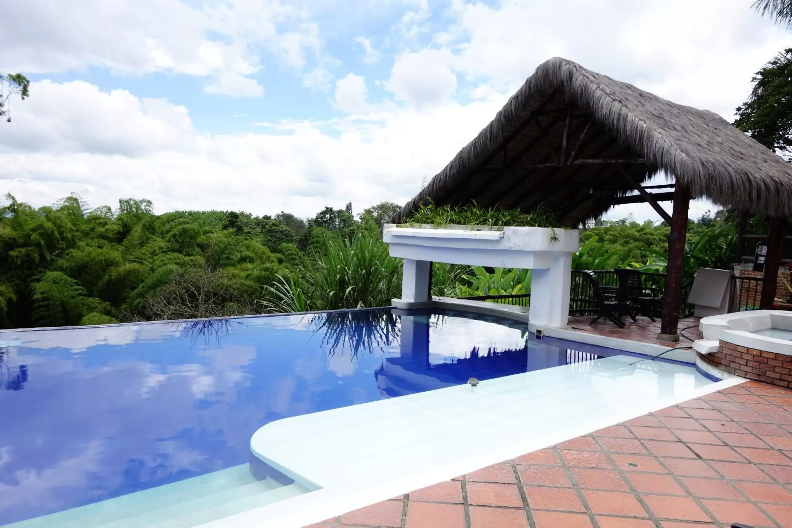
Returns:
[[[82,352],[101,344],[116,346],[135,341],[161,341],[168,336],[178,336],[179,329],[167,324],[115,325],[85,329],[29,330],[9,332],[5,340],[18,340],[17,346],[29,348],[69,348]]]

